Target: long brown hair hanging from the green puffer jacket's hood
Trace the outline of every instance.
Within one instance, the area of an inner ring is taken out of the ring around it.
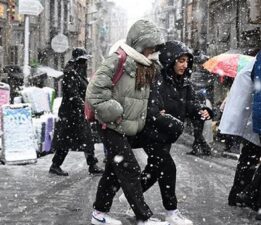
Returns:
[[[142,87],[150,85],[155,75],[156,66],[154,63],[151,66],[144,66],[137,62],[135,89],[140,90]]]

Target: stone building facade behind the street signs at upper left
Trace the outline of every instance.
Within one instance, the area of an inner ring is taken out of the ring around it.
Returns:
[[[39,16],[30,16],[29,64],[48,65],[61,70],[74,47],[86,47],[87,0],[39,0],[44,8]],[[52,39],[59,33],[68,38],[68,49],[56,53]],[[24,16],[18,1],[0,0],[0,68],[22,67],[24,61]]]

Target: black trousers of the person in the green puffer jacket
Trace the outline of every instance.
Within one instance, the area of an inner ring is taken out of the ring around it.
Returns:
[[[105,171],[99,181],[94,209],[109,212],[113,198],[121,187],[137,220],[147,220],[152,212],[145,203],[141,187],[141,170],[126,136],[111,129],[99,129],[107,149]]]

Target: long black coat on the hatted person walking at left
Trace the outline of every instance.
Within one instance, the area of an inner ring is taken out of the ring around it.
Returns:
[[[59,120],[55,125],[52,150],[94,150],[91,129],[84,117],[84,99],[88,85],[86,68],[70,60],[64,69],[63,97],[59,108]]]

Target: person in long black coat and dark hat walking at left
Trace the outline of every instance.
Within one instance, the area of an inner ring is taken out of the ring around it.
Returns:
[[[55,127],[52,151],[55,152],[49,172],[59,176],[68,176],[61,165],[69,150],[83,151],[89,165],[90,174],[102,174],[94,156],[94,141],[90,124],[84,116],[85,92],[88,85],[87,52],[75,48],[72,59],[64,69],[62,81],[63,98],[59,108],[59,120]]]

